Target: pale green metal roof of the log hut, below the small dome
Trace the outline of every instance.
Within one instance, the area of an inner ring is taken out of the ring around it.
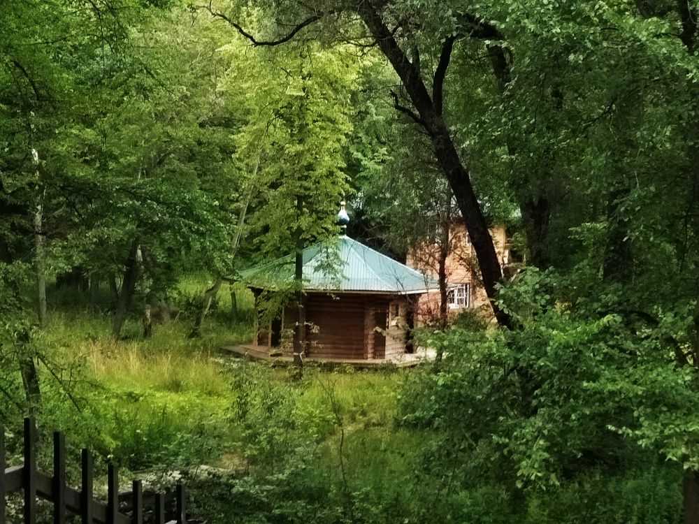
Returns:
[[[278,289],[294,279],[294,256],[240,273],[249,286]],[[438,283],[405,264],[345,235],[303,249],[303,288],[306,291],[366,293],[425,293]]]

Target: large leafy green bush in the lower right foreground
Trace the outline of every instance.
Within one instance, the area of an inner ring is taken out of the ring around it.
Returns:
[[[558,284],[530,270],[503,289],[517,330],[425,333],[445,360],[408,381],[403,421],[440,435],[426,460],[443,483],[503,486],[526,511],[542,511],[533,521],[674,520],[682,471],[696,467],[693,372],[678,369],[661,329],[576,315]],[[668,497],[657,511],[635,511],[655,470]],[[618,479],[608,488],[628,509],[606,498],[607,487],[596,491],[593,476]],[[582,493],[570,516],[556,516],[556,504]]]

